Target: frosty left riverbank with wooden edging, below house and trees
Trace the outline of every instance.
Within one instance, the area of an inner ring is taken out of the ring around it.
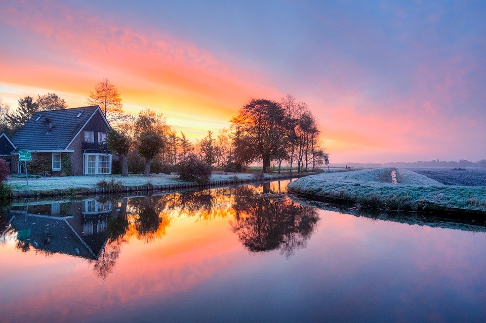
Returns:
[[[137,192],[155,190],[175,190],[188,188],[205,188],[211,186],[231,185],[239,183],[249,183],[261,180],[288,179],[307,176],[315,173],[300,174],[260,174],[254,173],[214,173],[207,183],[187,182],[178,179],[175,174],[152,174],[150,177],[142,175],[120,175],[109,176],[67,176],[67,177],[41,177],[29,178],[29,186],[26,185],[25,178],[9,178],[7,184],[13,191],[12,198],[42,197],[42,196],[76,196],[110,192]],[[102,189],[97,183],[103,179],[120,181],[121,187],[113,190]]]

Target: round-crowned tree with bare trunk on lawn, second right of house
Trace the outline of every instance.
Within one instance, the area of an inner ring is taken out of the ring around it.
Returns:
[[[137,134],[137,149],[140,156],[145,158],[145,176],[150,176],[150,164],[166,145],[168,126],[163,114],[145,109],[140,111],[135,121]]]

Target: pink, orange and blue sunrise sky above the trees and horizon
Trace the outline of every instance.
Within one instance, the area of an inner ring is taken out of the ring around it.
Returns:
[[[486,2],[2,1],[0,98],[108,78],[191,139],[305,102],[331,163],[486,158]]]

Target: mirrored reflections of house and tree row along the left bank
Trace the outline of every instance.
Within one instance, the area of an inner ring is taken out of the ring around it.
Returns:
[[[250,251],[280,249],[290,257],[305,247],[318,215],[314,208],[279,193],[286,182],[119,198],[14,203],[4,207],[3,240],[22,252],[67,254],[88,259],[101,276],[112,272],[120,246],[166,235],[171,220],[229,217],[231,230]],[[271,194],[269,197],[268,194]]]

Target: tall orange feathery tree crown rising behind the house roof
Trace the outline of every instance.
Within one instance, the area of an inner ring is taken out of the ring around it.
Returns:
[[[108,122],[116,123],[125,118],[120,93],[107,78],[95,85],[95,90],[90,93],[88,103],[100,106]]]

